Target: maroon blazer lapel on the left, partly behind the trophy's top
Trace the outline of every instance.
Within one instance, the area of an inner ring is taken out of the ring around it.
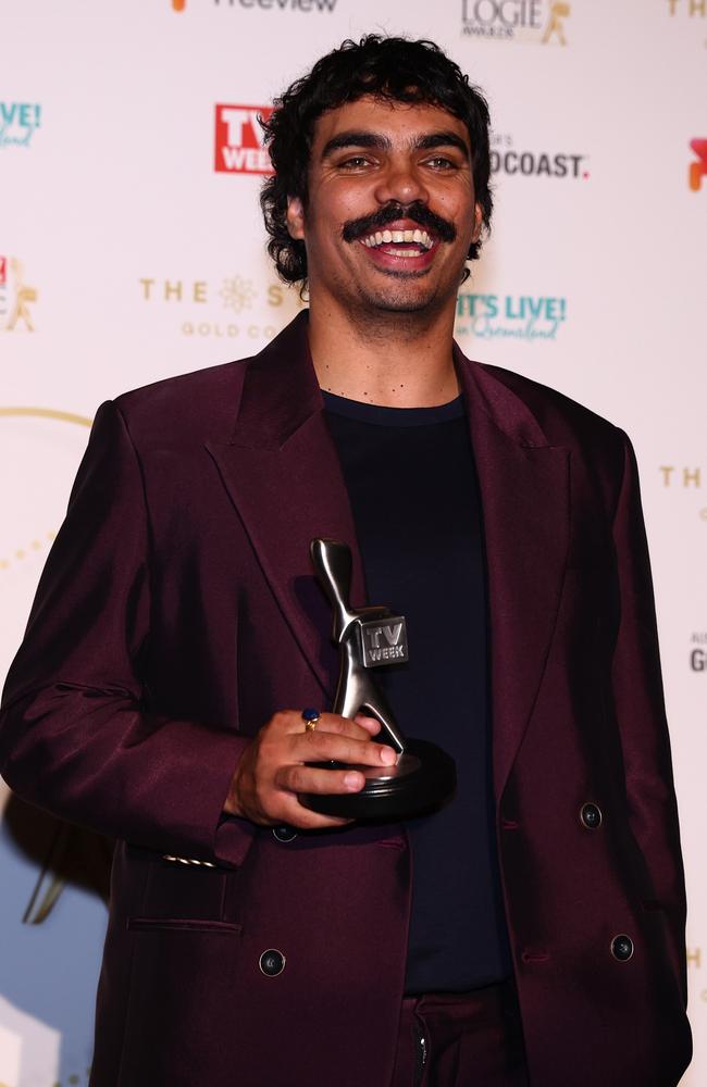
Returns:
[[[231,441],[207,448],[283,615],[331,698],[338,654],[327,637],[332,614],[313,574],[310,540],[324,536],[349,545],[356,604],[364,602],[364,583],[348,493],[309,354],[306,314],[248,364]]]

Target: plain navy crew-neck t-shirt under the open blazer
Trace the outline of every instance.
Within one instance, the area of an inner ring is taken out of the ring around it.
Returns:
[[[365,573],[365,603],[408,623],[410,660],[376,669],[406,736],[454,757],[446,807],[406,822],[406,992],[466,991],[511,972],[496,852],[482,512],[461,398],[381,408],[324,392]]]

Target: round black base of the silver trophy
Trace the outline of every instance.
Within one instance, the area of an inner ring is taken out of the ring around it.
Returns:
[[[309,765],[327,770],[351,769],[343,763]],[[395,766],[356,766],[365,777],[360,792],[300,794],[299,802],[320,815],[340,819],[410,819],[439,808],[457,787],[455,761],[427,740],[408,740]]]

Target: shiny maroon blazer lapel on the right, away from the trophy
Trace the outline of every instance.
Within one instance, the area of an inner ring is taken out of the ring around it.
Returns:
[[[457,352],[481,490],[500,800],[547,659],[569,545],[569,453],[503,382]]]

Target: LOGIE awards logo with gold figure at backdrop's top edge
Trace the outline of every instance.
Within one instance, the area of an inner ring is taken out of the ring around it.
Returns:
[[[567,0],[462,0],[461,33],[495,41],[567,46]]]

